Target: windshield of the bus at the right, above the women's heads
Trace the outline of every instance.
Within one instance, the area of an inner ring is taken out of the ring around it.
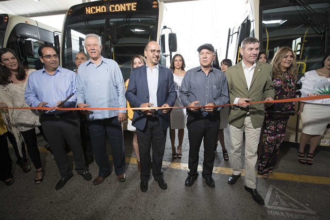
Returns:
[[[301,62],[300,73],[304,64],[305,71],[320,68],[327,44],[329,46],[329,39],[324,35],[329,31],[325,24],[329,8],[330,3],[327,2],[261,10],[261,43],[268,60],[280,47],[288,46],[296,52],[297,61]]]

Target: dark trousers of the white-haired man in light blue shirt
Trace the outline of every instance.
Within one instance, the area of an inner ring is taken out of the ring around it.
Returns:
[[[107,177],[111,174],[111,164],[107,151],[106,138],[110,142],[115,174],[125,173],[124,135],[118,117],[99,120],[88,120],[95,162],[99,166],[99,176]]]

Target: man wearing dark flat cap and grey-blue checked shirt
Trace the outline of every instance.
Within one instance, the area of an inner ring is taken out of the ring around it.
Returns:
[[[219,133],[219,107],[229,101],[225,73],[212,67],[215,58],[212,44],[203,44],[197,49],[200,66],[189,69],[183,77],[180,98],[188,106],[187,129],[189,138],[188,177],[185,186],[193,186],[198,177],[199,148],[204,139],[202,176],[206,185],[213,188],[214,145]],[[205,106],[199,108],[196,106]]]

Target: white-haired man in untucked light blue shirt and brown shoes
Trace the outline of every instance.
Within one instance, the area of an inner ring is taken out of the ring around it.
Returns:
[[[101,41],[96,34],[87,34],[85,48],[90,60],[78,68],[77,106],[86,108],[88,128],[92,141],[99,176],[93,184],[98,185],[111,174],[111,164],[106,148],[108,136],[113,154],[115,174],[119,182],[126,181],[124,137],[121,123],[126,110],[87,110],[94,108],[126,108],[125,85],[118,64],[101,56]]]

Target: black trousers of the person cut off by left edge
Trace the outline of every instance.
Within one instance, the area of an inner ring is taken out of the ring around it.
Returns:
[[[12,163],[8,151],[8,142],[6,133],[0,135],[0,180],[5,181],[13,178]]]

